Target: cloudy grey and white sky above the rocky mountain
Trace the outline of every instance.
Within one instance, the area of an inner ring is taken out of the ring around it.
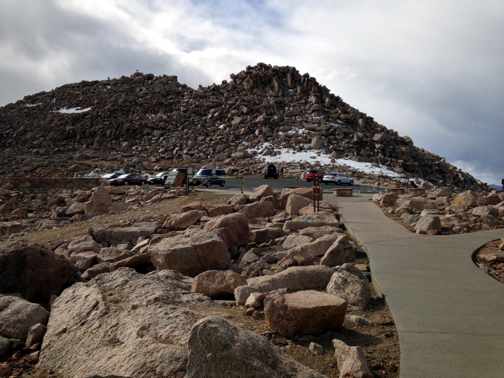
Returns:
[[[504,2],[0,0],[0,106],[137,70],[295,66],[415,146],[504,178]]]

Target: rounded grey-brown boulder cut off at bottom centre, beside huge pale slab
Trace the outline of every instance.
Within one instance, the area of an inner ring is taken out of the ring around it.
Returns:
[[[188,341],[186,378],[324,378],[264,337],[220,317],[198,321]]]

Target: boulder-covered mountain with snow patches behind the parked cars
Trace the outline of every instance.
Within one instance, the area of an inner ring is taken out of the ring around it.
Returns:
[[[320,166],[321,156],[380,164],[438,186],[489,190],[486,184],[413,145],[294,67],[259,63],[220,85],[193,89],[176,76],[66,84],[0,108],[0,174],[76,175],[82,161],[126,171],[211,161],[255,174],[281,149],[313,152],[287,173]],[[325,166],[327,169],[332,167]]]

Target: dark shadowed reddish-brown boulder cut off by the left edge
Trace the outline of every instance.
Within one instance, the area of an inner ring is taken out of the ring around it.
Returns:
[[[77,269],[37,243],[0,244],[0,293],[17,293],[30,301],[48,301],[70,285]]]

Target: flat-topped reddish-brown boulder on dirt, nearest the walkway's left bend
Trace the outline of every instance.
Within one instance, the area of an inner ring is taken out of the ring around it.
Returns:
[[[291,294],[275,292],[264,299],[268,328],[282,336],[341,328],[346,311],[345,299],[315,290]]]

